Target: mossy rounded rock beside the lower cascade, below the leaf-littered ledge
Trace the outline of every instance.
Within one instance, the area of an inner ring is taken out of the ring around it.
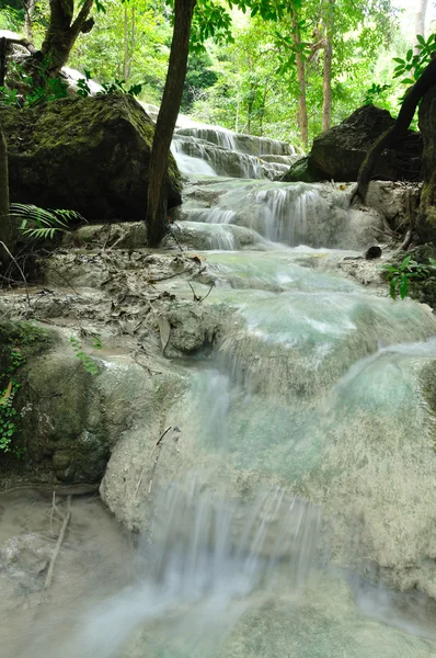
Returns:
[[[1,390],[10,381],[19,384],[12,389],[14,430],[7,450],[1,443],[9,417],[0,406],[2,478],[99,483],[119,438],[131,428],[159,426],[162,392],[169,387],[175,395],[182,386],[173,365],[162,363],[152,377],[127,353],[85,343],[81,351],[92,356],[94,373],[74,353],[68,331],[0,322]]]

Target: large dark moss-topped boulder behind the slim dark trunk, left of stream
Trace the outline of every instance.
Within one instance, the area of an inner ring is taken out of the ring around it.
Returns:
[[[153,123],[128,94],[1,107],[12,202],[71,208],[90,220],[144,219]],[[169,207],[181,203],[172,157]]]

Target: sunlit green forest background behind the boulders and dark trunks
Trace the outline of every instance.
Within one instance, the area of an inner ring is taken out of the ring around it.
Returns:
[[[159,104],[171,8],[161,0],[105,0],[100,7],[69,66],[102,83],[141,84],[139,98]],[[182,112],[305,149],[364,103],[395,116],[404,87],[392,78],[394,58],[412,54],[416,34],[436,30],[426,0],[305,0],[278,21],[256,13],[233,8],[229,29],[213,30],[204,46],[192,48]],[[0,29],[25,32],[37,47],[48,16],[48,0],[30,0],[25,9],[21,0],[0,3]],[[195,30],[194,20],[194,44]]]

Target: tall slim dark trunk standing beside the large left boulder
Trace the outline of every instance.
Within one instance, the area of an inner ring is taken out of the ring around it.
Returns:
[[[157,247],[167,231],[167,169],[175,122],[182,103],[196,0],[175,0],[174,31],[161,106],[150,156],[147,214],[148,242]]]

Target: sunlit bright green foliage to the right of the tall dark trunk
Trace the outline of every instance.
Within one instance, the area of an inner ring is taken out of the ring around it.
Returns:
[[[325,37],[332,20],[333,125],[362,105],[365,95],[367,102],[377,95],[378,103],[382,101],[391,109],[388,80],[371,87],[377,59],[393,31],[389,1],[375,0],[368,5],[364,0],[335,0],[333,10],[328,0],[273,4],[252,0],[245,5],[250,18],[233,30],[234,43],[219,48],[207,44],[217,81],[196,93],[195,118],[298,145],[298,54],[305,65],[309,135],[312,138],[319,134],[324,50],[318,42]],[[296,33],[300,43],[295,39]]]

